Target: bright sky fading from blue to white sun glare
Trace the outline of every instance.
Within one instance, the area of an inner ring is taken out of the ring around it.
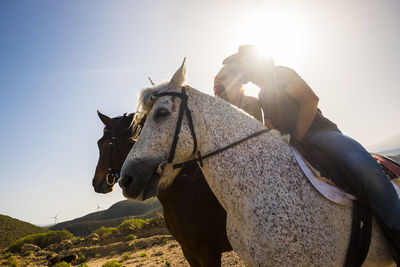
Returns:
[[[296,70],[363,145],[400,133],[400,2],[293,2],[0,1],[0,214],[50,224],[122,200],[91,185],[96,110],[133,112],[147,76],[185,56],[188,84],[211,94],[240,44]]]

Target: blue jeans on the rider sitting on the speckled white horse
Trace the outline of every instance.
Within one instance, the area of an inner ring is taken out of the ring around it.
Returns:
[[[350,184],[359,188],[362,198],[391,231],[400,230],[400,200],[396,190],[375,159],[354,139],[338,130],[311,131],[302,143],[318,147],[340,162],[352,174]],[[358,196],[360,197],[360,196]]]

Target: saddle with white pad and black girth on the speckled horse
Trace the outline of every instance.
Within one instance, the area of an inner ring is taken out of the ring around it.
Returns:
[[[352,184],[351,172],[344,163],[318,147],[292,146],[295,158],[314,187],[329,200],[353,207],[352,230],[344,266],[361,266],[368,254],[372,233],[372,213],[363,199],[363,193]],[[372,154],[382,170],[393,180],[400,177],[400,164],[378,154]],[[400,179],[399,179],[400,180]],[[399,187],[394,184],[400,196]],[[391,240],[390,232],[380,223],[383,233]],[[398,262],[398,255],[391,251]]]

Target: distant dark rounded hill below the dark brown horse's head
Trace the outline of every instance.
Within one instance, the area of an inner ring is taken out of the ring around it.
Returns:
[[[115,203],[107,210],[93,212],[71,221],[61,222],[49,229],[66,229],[76,236],[85,236],[101,226],[117,226],[129,217],[148,219],[155,217],[158,213],[162,213],[162,208],[156,198],[146,201],[123,200]]]

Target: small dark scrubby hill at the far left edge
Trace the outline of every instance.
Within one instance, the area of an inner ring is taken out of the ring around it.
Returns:
[[[44,228],[0,214],[0,249],[8,247],[21,237],[45,231],[47,230]]]

